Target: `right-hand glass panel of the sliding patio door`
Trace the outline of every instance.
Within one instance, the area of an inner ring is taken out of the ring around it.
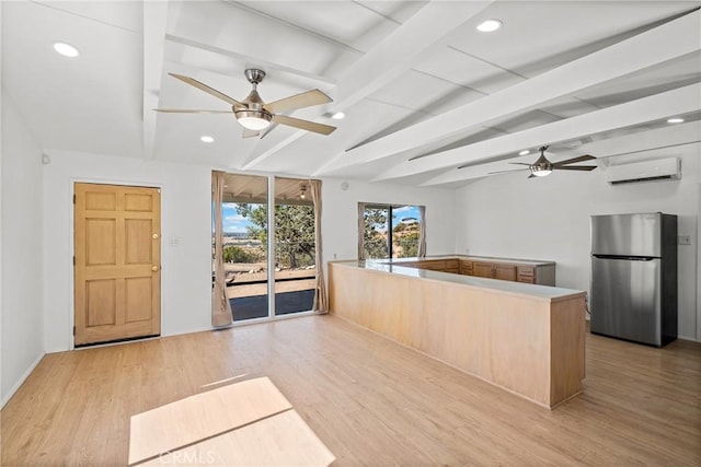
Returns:
[[[317,278],[309,182],[275,177],[275,315],[308,312]]]

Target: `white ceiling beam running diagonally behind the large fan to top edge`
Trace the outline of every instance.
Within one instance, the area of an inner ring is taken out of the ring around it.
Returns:
[[[352,63],[332,91],[334,102],[324,112],[345,110],[412,68],[416,59],[430,47],[447,44],[447,36],[480,13],[495,0],[446,2],[432,1],[394,30],[372,50]],[[243,168],[252,168],[276,152],[297,141],[307,131],[296,131],[272,148],[252,155]]]

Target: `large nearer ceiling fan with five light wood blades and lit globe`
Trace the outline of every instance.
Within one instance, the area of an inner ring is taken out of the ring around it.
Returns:
[[[299,128],[301,130],[313,131],[321,135],[330,135],[336,127],[330,125],[318,124],[315,121],[302,120],[300,118],[280,115],[280,112],[296,110],[298,108],[311,107],[331,102],[331,97],[319,90],[311,90],[289,97],[280,98],[275,102],[265,103],[256,90],[257,85],[265,78],[265,71],[256,68],[250,68],[244,71],[245,78],[253,90],[243,100],[237,101],[228,95],[209,87],[207,84],[176,73],[169,73],[173,78],[197,87],[208,94],[218,97],[231,105],[231,110],[193,110],[176,108],[154,108],[156,112],[166,114],[230,114],[237,117],[237,120],[243,127],[243,138],[257,137],[261,131],[265,130],[271,124],[287,125],[288,127]],[[263,135],[265,136],[265,133]]]

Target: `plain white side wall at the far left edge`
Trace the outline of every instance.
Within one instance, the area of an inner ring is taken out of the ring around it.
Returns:
[[[42,152],[2,90],[2,406],[44,355]]]

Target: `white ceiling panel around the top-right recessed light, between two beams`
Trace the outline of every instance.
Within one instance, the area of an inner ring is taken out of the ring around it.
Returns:
[[[494,34],[474,30],[475,19],[451,45],[524,77],[532,78],[601,49],[630,31],[694,8],[676,1],[506,1],[480,16],[499,19]]]

